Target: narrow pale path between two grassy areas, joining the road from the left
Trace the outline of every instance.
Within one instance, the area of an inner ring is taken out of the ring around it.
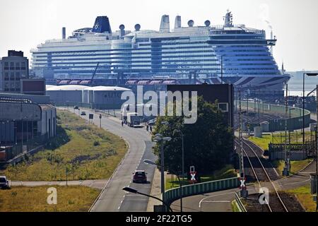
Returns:
[[[11,182],[11,186],[88,186],[94,189],[102,189],[107,183],[107,179],[88,179],[83,181],[61,181],[61,182]]]

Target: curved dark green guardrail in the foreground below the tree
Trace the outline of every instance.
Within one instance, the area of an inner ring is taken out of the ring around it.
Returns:
[[[198,184],[189,184],[182,186],[183,196],[194,196],[199,194],[210,193],[214,191],[222,191],[227,189],[235,189],[240,186],[239,177],[232,177],[228,179],[219,179],[212,182],[204,182]],[[181,197],[180,188],[169,189],[165,191],[165,202],[170,206],[172,202]]]

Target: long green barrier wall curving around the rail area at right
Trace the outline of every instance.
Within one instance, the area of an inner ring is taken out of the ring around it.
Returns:
[[[237,102],[238,104],[238,102]],[[247,101],[241,101],[242,107],[247,107]],[[262,112],[267,114],[284,114],[286,113],[285,106],[283,105],[271,105],[257,102],[248,102],[250,112],[258,112],[259,114]],[[290,110],[291,109],[291,110]],[[287,109],[287,128],[290,131],[295,129],[302,129],[302,109],[299,107],[288,107]],[[289,118],[290,114],[290,118]],[[304,114],[305,119],[305,127],[310,125],[310,111],[305,109]],[[268,131],[284,131],[285,130],[285,121],[286,119],[271,119],[269,120]],[[254,126],[259,126],[259,124],[250,124],[249,129],[253,129]]]

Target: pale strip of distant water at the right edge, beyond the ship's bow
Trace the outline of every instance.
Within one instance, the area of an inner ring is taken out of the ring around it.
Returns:
[[[290,81],[288,82],[288,95],[302,96],[302,73],[290,73]],[[318,76],[305,77],[305,95],[316,88],[318,84]],[[314,93],[315,94],[315,93]]]

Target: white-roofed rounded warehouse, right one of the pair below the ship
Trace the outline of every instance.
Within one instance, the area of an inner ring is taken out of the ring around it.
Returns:
[[[122,100],[122,93],[131,91],[119,86],[95,86],[83,90],[83,103],[96,109],[120,109],[126,100]]]

